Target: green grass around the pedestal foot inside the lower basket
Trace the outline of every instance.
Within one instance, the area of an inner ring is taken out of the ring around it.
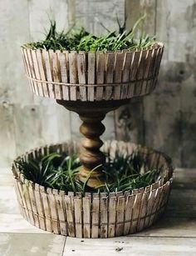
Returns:
[[[102,167],[105,173],[105,184],[90,188],[86,182],[82,183],[77,177],[80,172],[80,161],[76,154],[51,153],[37,159],[29,158],[17,161],[19,171],[27,180],[47,188],[61,189],[66,192],[117,192],[149,186],[159,180],[159,170],[152,169],[147,173],[141,173],[144,165],[139,156],[123,156],[116,153],[115,158],[106,158]],[[92,170],[93,172],[93,170]],[[91,177],[91,173],[89,178]]]

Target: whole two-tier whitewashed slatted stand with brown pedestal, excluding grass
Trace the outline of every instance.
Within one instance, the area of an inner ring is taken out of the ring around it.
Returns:
[[[106,143],[104,151],[100,135],[105,127],[105,114],[129,103],[131,98],[151,93],[156,85],[159,65],[164,51],[162,43],[151,48],[130,52],[68,52],[32,50],[22,47],[22,56],[32,92],[55,98],[56,102],[79,114],[85,136],[81,147],[81,173],[84,181],[93,168],[105,163],[105,151],[114,153],[135,150],[147,160],[146,168],[159,167],[162,179],[148,188],[117,193],[65,194],[31,183],[22,198],[25,180],[13,168],[17,181],[18,201],[22,215],[45,230],[75,237],[106,238],[134,233],[149,227],[164,211],[169,196],[172,168],[161,153],[130,143]],[[72,144],[40,148],[31,154],[55,150],[70,150]],[[115,146],[114,146],[115,145]],[[28,153],[22,158],[28,158]],[[101,168],[91,173],[88,185],[92,188],[104,183]]]

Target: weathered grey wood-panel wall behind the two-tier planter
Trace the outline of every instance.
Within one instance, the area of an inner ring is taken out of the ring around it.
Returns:
[[[145,25],[165,43],[154,93],[110,113],[104,138],[145,143],[169,153],[178,166],[196,165],[195,0],[12,0],[0,1],[0,166],[29,148],[80,137],[80,120],[48,98],[33,96],[24,76],[20,45],[43,38],[48,14],[59,29],[83,24],[93,33],[115,28],[115,13],[131,27]]]

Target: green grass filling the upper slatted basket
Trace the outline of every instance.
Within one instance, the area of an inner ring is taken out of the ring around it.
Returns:
[[[51,28],[47,33],[45,40],[36,43],[27,43],[27,48],[32,49],[52,49],[52,50],[69,50],[69,51],[117,51],[122,49],[142,49],[149,48],[157,43],[154,37],[150,37],[142,31],[145,16],[140,17],[135,22],[130,31],[125,30],[125,23],[121,26],[119,20],[119,31],[109,31],[107,34],[96,37],[88,33],[85,28],[78,31],[70,29],[68,32],[64,30],[61,33],[56,31],[56,22],[51,21]],[[139,38],[136,36],[140,33]]]

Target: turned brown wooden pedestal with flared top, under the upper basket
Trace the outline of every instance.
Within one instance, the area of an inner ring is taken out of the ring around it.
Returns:
[[[100,135],[105,132],[101,121],[106,113],[129,103],[130,100],[110,100],[101,102],[81,102],[56,100],[57,103],[70,111],[79,114],[83,121],[80,132],[85,136],[81,142],[80,160],[82,164],[79,178],[82,182],[88,178],[88,186],[96,188],[104,183],[102,165],[105,163],[105,154],[100,151],[103,145]]]

